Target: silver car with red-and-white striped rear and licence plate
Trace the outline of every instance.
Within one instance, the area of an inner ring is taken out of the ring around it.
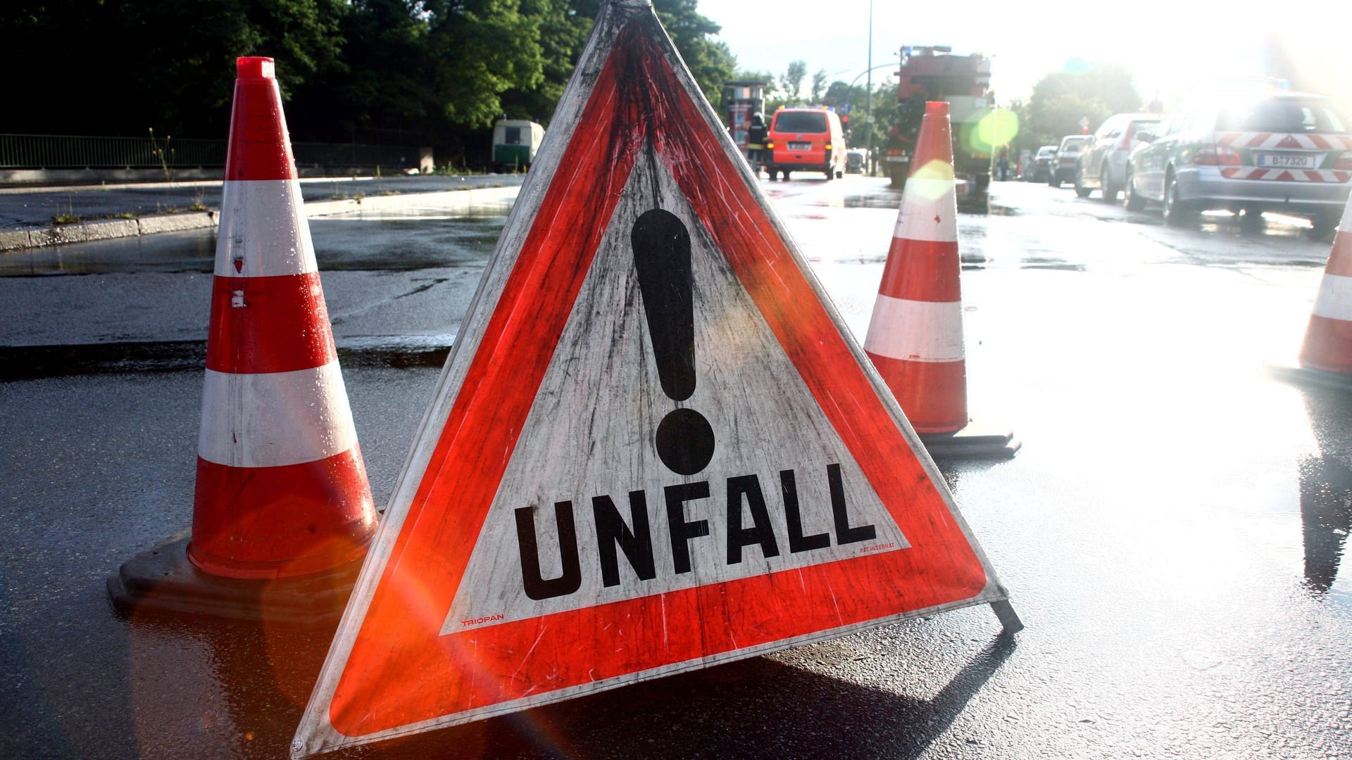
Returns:
[[[1305,216],[1329,238],[1352,189],[1352,119],[1321,95],[1261,92],[1184,103],[1130,157],[1128,208],[1163,204],[1182,224],[1199,211]]]

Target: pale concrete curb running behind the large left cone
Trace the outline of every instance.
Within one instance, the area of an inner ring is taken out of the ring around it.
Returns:
[[[469,212],[476,207],[496,207],[511,204],[521,192],[521,185],[499,188],[466,188],[456,191],[414,192],[399,195],[373,195],[343,200],[319,200],[306,203],[306,218],[333,216],[335,214],[380,212],[396,208],[429,208],[448,212]],[[219,211],[193,214],[160,214],[135,219],[100,219],[76,224],[58,224],[27,230],[0,230],[0,252],[15,252],[53,245],[131,238],[158,233],[181,233],[187,230],[214,229],[220,220]]]

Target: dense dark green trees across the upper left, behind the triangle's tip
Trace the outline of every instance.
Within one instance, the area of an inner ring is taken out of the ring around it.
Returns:
[[[295,141],[416,142],[439,157],[477,143],[487,151],[500,114],[549,120],[599,8],[600,0],[8,0],[0,64],[30,72],[41,61],[46,95],[55,96],[5,110],[0,131],[224,137],[235,57],[269,55]],[[718,24],[696,0],[654,0],[654,8],[717,103],[735,69]],[[100,68],[110,84],[84,85]],[[77,87],[77,96],[59,92]]]

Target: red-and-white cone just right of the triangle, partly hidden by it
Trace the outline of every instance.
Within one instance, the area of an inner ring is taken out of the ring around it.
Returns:
[[[864,350],[932,454],[1010,456],[1013,434],[964,435],[967,354],[948,103],[925,104]],[[940,452],[942,449],[942,452]]]

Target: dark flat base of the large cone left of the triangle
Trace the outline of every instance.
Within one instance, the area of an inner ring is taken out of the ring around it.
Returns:
[[[203,615],[301,626],[342,617],[361,560],[326,572],[270,580],[211,575],[188,560],[189,530],[137,554],[108,576],[108,596],[120,615]]]

